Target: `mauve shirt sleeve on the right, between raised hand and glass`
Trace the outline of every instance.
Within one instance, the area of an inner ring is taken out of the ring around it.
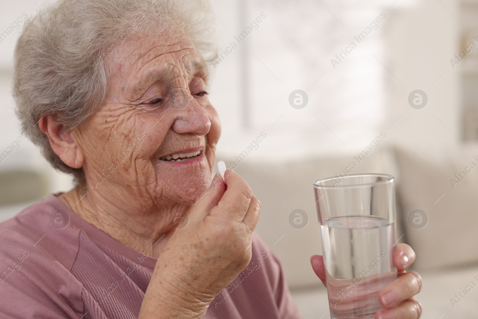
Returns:
[[[255,232],[253,233],[252,241],[253,249],[255,249],[256,253],[263,258],[266,274],[271,283],[272,293],[277,308],[279,309],[279,318],[302,319],[289,291],[289,287],[287,286],[281,262]]]

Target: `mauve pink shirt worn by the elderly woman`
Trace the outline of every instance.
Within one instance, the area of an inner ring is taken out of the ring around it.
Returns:
[[[138,318],[156,258],[87,223],[58,195],[0,223],[0,318]],[[249,266],[203,318],[301,318],[279,260],[258,235]]]

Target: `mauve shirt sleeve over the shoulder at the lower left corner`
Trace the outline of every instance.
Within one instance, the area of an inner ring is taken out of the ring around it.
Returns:
[[[0,318],[81,318],[81,289],[40,243],[14,228],[0,227]]]

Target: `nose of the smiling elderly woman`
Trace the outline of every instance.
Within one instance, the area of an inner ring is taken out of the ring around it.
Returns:
[[[179,100],[176,100],[178,102]],[[180,108],[178,106],[181,106]],[[196,99],[188,95],[186,101],[182,98],[180,104],[172,105],[176,109],[177,116],[172,129],[178,134],[190,133],[194,135],[206,135],[211,128],[211,120],[206,108],[201,106]]]

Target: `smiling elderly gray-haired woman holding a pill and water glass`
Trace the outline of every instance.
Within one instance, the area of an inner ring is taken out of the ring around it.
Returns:
[[[63,0],[27,22],[18,115],[76,187],[1,224],[1,318],[300,318],[259,200],[230,169],[211,183],[209,25],[200,0]],[[377,318],[420,317],[413,260],[397,245]]]

